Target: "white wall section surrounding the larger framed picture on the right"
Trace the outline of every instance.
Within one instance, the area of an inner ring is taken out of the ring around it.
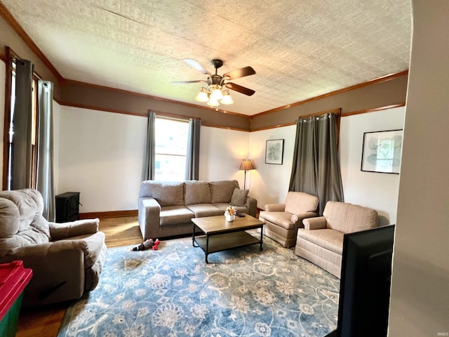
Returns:
[[[363,133],[403,128],[405,107],[342,117],[340,167],[344,201],[375,209],[380,225],[396,223],[399,175],[361,171]]]

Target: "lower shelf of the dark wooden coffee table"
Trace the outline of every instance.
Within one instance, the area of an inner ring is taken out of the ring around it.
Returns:
[[[262,240],[253,237],[253,235],[245,231],[195,237],[194,240],[206,254],[206,263],[208,263],[208,255],[210,253],[226,251],[227,249],[260,244],[260,250],[262,251]]]

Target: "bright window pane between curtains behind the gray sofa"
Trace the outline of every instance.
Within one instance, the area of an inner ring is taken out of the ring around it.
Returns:
[[[155,126],[154,179],[164,181],[184,180],[189,122],[156,117]]]

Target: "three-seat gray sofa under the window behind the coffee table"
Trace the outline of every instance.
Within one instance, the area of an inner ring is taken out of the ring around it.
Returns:
[[[140,231],[144,239],[192,234],[192,218],[219,216],[227,206],[255,216],[257,200],[241,190],[237,180],[164,182],[145,180],[138,201]]]

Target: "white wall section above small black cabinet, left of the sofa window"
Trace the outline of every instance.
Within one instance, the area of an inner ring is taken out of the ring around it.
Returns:
[[[60,107],[58,194],[81,192],[80,213],[137,209],[147,120]]]

